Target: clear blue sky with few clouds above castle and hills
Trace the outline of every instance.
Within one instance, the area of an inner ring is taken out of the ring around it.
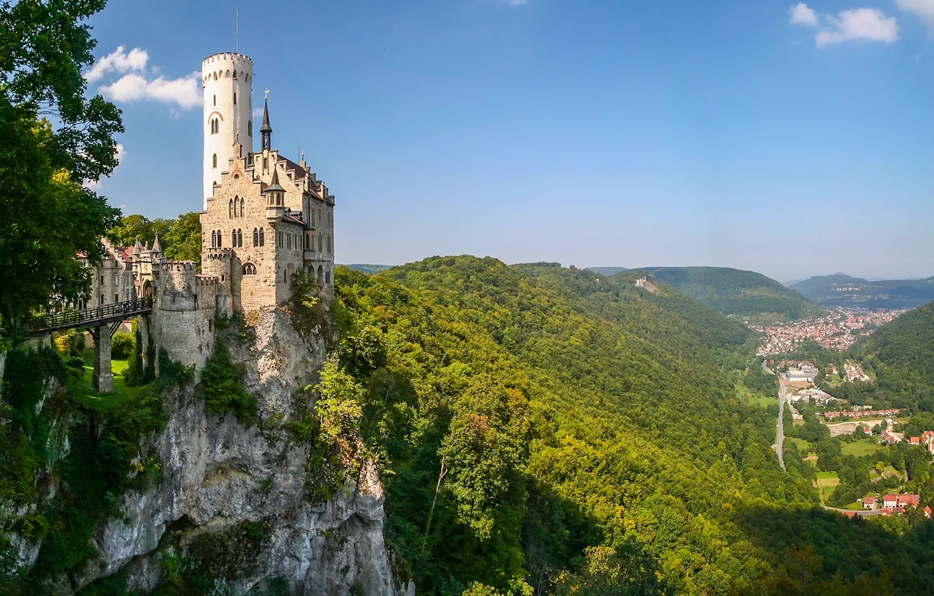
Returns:
[[[127,129],[101,192],[124,213],[201,208],[193,81],[234,49],[236,6],[92,20],[110,58],[89,92]],[[340,263],[934,275],[934,0],[255,6],[254,105],[271,90],[274,146],[336,195]]]

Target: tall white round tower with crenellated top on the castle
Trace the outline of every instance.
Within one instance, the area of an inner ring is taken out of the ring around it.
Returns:
[[[243,54],[224,52],[201,63],[205,89],[205,208],[214,196],[233,155],[233,142],[253,150],[253,61]]]

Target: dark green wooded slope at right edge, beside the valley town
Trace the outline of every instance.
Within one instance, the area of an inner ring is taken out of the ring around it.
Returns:
[[[885,323],[853,349],[875,371],[877,392],[899,407],[934,412],[934,302]]]

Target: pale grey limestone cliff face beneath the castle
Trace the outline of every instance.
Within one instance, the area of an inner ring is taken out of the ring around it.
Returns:
[[[323,342],[297,333],[280,309],[248,322],[219,336],[233,362],[247,366],[245,385],[258,397],[260,421],[245,426],[233,414],[206,415],[191,389],[171,396],[170,419],[149,445],[162,461],[161,477],[145,492],[123,495],[122,519],[96,533],[101,556],[78,585],[127,568],[127,588],[147,592],[162,578],[166,548],[184,550],[198,536],[229,535],[223,532],[252,522],[265,532],[230,580],[234,593],[275,579],[292,594],[414,594],[393,576],[375,469],[364,465],[358,482],[328,503],[306,498],[306,481],[317,473],[310,447],[284,425],[308,405],[304,387],[316,382]]]

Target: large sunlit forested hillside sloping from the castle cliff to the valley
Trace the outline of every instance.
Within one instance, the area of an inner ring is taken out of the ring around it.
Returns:
[[[931,588],[927,526],[825,513],[813,468],[789,452],[781,471],[773,416],[729,373],[749,332],[681,292],[473,257],[341,268],[336,292],[421,593]]]

